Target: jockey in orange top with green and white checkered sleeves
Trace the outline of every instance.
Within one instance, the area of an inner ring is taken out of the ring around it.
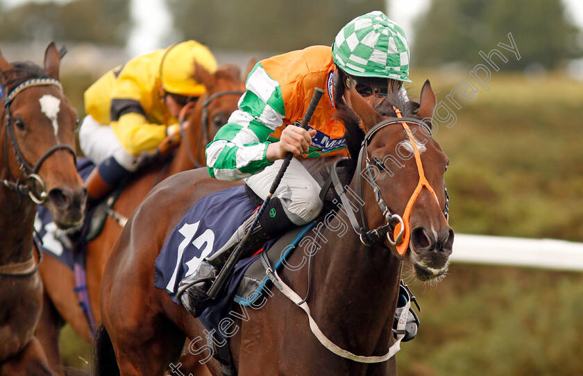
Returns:
[[[262,60],[246,81],[239,109],[231,114],[206,148],[210,176],[244,179],[262,200],[267,198],[287,152],[294,153],[278,189],[253,230],[247,254],[267,239],[310,223],[322,210],[321,185],[332,163],[346,156],[344,125],[334,119],[339,104],[350,105],[350,88],[370,105],[400,91],[409,76],[409,46],[403,28],[382,12],[349,22],[332,48],[310,46]],[[299,126],[314,89],[325,89],[308,130]],[[194,317],[208,305],[206,291],[235,250],[255,214],[221,250],[205,259],[178,287],[178,297]],[[243,256],[246,256],[243,255]]]

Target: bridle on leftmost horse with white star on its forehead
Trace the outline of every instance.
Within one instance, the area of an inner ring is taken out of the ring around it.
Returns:
[[[34,166],[26,161],[24,155],[22,155],[22,151],[18,146],[18,142],[15,135],[14,130],[14,121],[12,119],[12,114],[10,113],[10,105],[12,101],[16,98],[16,96],[25,89],[29,87],[35,86],[56,86],[62,92],[62,86],[60,82],[54,78],[34,78],[32,80],[27,80],[24,83],[15,87],[15,89],[10,92],[6,96],[6,100],[4,101],[4,126],[6,128],[6,137],[4,137],[4,160],[6,161],[6,168],[8,169],[8,179],[0,180],[0,183],[15,191],[17,194],[21,196],[27,196],[33,200],[34,203],[42,204],[49,198],[49,194],[47,193],[44,181],[42,178],[37,174],[40,170],[40,167],[50,157],[53,153],[60,149],[64,149],[69,151],[76,162],[76,154],[73,148],[67,144],[56,144],[51,146],[47,151],[45,151],[39,160],[34,164]],[[16,155],[16,160],[19,166],[20,171],[24,175],[24,182],[20,181],[19,179],[16,181],[10,172],[10,165],[8,164],[8,139],[10,139],[10,144],[12,145],[12,150]],[[35,191],[35,183],[40,186],[40,193]]]

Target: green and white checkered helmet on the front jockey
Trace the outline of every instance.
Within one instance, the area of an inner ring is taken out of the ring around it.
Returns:
[[[335,64],[357,77],[409,80],[405,31],[378,10],[348,22],[332,44]]]

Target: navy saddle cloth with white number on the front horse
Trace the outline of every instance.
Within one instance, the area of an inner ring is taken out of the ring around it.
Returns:
[[[158,255],[154,264],[154,286],[166,290],[171,300],[180,305],[180,301],[176,298],[180,281],[194,273],[205,257],[210,257],[221,249],[255,209],[257,207],[246,195],[244,185],[218,191],[198,200],[178,222]],[[269,250],[277,240],[271,239],[265,243],[264,250]],[[288,247],[282,257],[287,256],[292,248]],[[227,316],[234,302],[250,306],[260,296],[267,282],[264,271],[261,273],[265,280],[245,277],[247,282],[251,283],[246,289],[241,289],[239,286],[249,266],[255,261],[261,265],[258,259],[259,255],[255,255],[237,263],[233,277],[223,290],[223,296],[215,300],[199,316],[199,320],[205,327],[216,329],[221,319]],[[273,264],[275,267],[281,264],[277,259],[278,257]],[[250,289],[253,289],[253,294],[247,293]],[[219,334],[222,333],[219,331]]]

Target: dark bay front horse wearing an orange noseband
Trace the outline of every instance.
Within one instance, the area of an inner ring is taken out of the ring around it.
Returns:
[[[339,192],[343,204],[314,225],[316,240],[294,250],[287,264],[305,265],[310,257],[311,268],[282,269],[279,282],[291,290],[271,287],[257,309],[239,305],[223,326],[239,375],[395,375],[391,328],[403,266],[422,281],[446,273],[453,247],[443,180],[448,159],[430,137],[436,99],[429,82],[420,103],[385,99],[385,116],[354,90],[351,101],[362,129],[349,110],[339,118],[353,156],[352,194]],[[185,337],[195,339],[193,353],[210,352],[200,321],[154,287],[154,263],[197,200],[236,184],[205,169],[186,171],[155,187],[134,212],[103,273],[96,375],[162,375]],[[339,232],[341,224],[346,231]],[[221,374],[216,361],[207,365]]]

